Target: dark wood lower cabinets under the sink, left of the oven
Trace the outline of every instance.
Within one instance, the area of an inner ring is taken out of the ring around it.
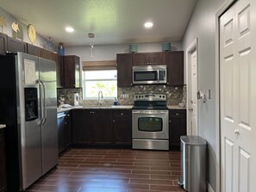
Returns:
[[[131,110],[72,110],[72,144],[131,146]]]

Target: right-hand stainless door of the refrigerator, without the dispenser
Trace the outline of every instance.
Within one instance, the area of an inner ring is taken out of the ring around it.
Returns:
[[[42,174],[45,174],[58,161],[56,65],[54,61],[40,59],[39,68],[40,80],[46,86],[47,121],[41,126]]]

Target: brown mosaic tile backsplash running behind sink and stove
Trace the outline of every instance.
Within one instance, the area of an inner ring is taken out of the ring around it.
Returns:
[[[83,100],[83,90],[79,89],[58,89],[57,96],[65,96],[66,104],[74,104],[74,93],[79,93],[79,105],[92,106],[97,105],[97,100]],[[133,105],[135,94],[160,93],[165,94],[167,105],[178,105],[184,103],[186,105],[186,86],[165,86],[165,85],[136,85],[128,88],[117,89],[117,99],[119,105]],[[58,102],[59,103],[59,102]],[[111,106],[113,100],[103,99],[103,106]]]

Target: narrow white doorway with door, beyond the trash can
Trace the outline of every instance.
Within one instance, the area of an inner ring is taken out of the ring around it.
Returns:
[[[186,49],[186,84],[187,84],[187,134],[198,135],[197,113],[197,45],[195,39]]]

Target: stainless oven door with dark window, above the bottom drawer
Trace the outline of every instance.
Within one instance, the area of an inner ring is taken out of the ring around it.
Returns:
[[[133,110],[133,139],[168,138],[168,110]]]

